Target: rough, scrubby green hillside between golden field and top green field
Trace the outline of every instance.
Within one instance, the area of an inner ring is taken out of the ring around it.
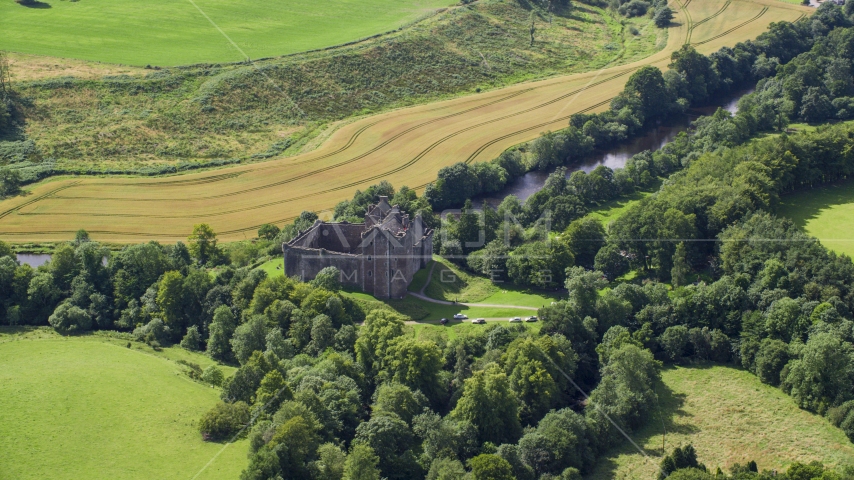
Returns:
[[[17,68],[22,78],[42,78],[16,86],[28,99],[22,103],[26,123],[19,139],[38,147],[18,157],[37,164],[53,159],[52,168],[74,172],[264,159],[314,148],[328,134],[326,122],[595,69],[614,59],[637,60],[664,46],[664,30],[643,28],[648,19],[626,20],[637,27],[635,35],[604,11],[577,5],[571,13],[548,16],[516,1],[485,0],[358,45],[146,76],[92,79],[81,67],[86,80],[46,79],[43,66],[13,61],[13,75],[19,75]],[[2,8],[11,7],[18,6],[9,2]],[[264,39],[253,42],[261,45]],[[247,53],[253,56],[251,49]],[[42,74],[30,75],[31,68]],[[285,143],[271,149],[277,142]]]

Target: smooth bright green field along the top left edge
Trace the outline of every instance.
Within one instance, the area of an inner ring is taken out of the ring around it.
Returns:
[[[243,53],[278,56],[383,33],[450,3],[40,0],[33,8],[6,1],[0,49],[128,65],[235,62]]]

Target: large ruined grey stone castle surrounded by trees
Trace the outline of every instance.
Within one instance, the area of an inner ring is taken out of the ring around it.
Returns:
[[[341,271],[341,284],[377,298],[403,298],[415,272],[433,255],[433,230],[380,197],[365,223],[316,220],[282,245],[285,275],[311,280],[325,267]]]

